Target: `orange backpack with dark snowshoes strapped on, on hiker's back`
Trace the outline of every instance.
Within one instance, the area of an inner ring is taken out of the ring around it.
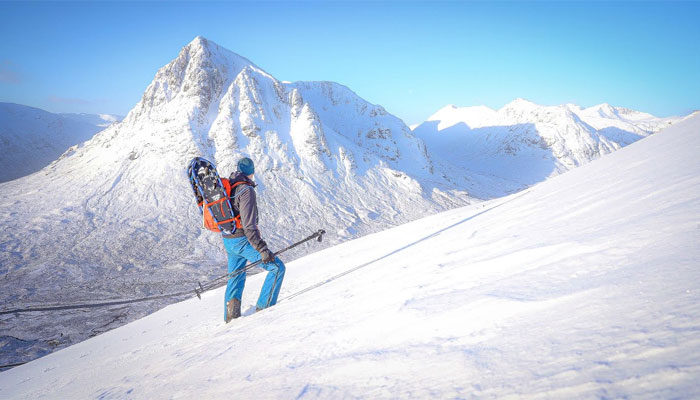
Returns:
[[[204,227],[229,235],[235,232],[237,216],[229,198],[231,188],[228,179],[222,180],[214,164],[201,157],[190,161],[187,174],[204,217]]]

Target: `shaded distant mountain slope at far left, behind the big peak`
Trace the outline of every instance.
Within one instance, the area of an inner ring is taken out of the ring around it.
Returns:
[[[0,182],[40,170],[118,120],[114,115],[53,114],[0,103]]]

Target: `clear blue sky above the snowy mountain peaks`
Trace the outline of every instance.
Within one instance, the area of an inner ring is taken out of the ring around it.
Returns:
[[[447,104],[700,109],[697,2],[0,2],[0,101],[126,114],[201,35],[408,124]]]

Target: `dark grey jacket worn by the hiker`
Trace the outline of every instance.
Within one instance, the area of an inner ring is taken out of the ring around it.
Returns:
[[[267,249],[267,243],[262,239],[258,229],[258,203],[255,197],[255,183],[240,172],[234,172],[229,178],[231,187],[237,182],[245,182],[231,189],[231,205],[234,212],[241,216],[242,229],[236,229],[233,235],[223,235],[225,238],[245,236],[258,252]]]

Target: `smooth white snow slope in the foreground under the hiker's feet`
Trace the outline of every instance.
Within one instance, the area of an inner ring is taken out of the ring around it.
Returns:
[[[700,396],[700,116],[0,374],[2,398]],[[310,290],[305,290],[311,288]],[[305,291],[304,291],[305,290]]]

